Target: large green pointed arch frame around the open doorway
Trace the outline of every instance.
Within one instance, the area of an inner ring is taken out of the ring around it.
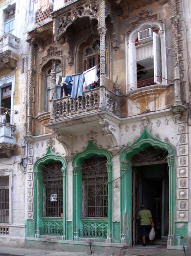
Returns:
[[[168,245],[173,245],[174,210],[175,210],[175,158],[173,146],[153,137],[146,128],[141,136],[130,146],[122,150],[120,161],[120,231],[121,243],[131,244],[132,239],[132,163],[134,155],[144,151],[149,146],[168,152],[169,166],[169,239]],[[124,175],[123,175],[124,174]]]

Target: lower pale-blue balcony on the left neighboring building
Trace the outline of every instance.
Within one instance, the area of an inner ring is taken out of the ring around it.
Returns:
[[[16,148],[14,130],[14,125],[0,123],[0,158],[11,157],[13,155]]]

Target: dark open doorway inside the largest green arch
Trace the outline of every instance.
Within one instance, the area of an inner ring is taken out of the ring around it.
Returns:
[[[168,235],[169,175],[168,152],[149,146],[132,157],[132,246],[142,243],[140,223],[136,219],[144,204],[153,216],[156,237],[152,244],[165,244]]]

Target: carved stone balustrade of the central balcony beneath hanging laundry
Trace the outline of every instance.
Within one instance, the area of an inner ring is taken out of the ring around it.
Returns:
[[[106,90],[106,110],[114,113],[116,111],[116,96],[113,92]],[[71,99],[70,96],[54,101],[54,118],[65,118],[86,112],[97,111],[100,106],[99,88],[88,90],[82,97]]]

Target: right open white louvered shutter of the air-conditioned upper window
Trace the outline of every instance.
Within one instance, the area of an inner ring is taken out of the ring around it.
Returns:
[[[154,55],[154,82],[162,82],[162,63],[161,63],[161,42],[159,36],[153,32],[153,55]]]

